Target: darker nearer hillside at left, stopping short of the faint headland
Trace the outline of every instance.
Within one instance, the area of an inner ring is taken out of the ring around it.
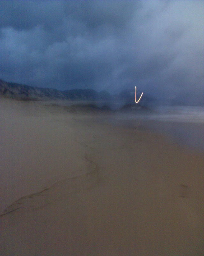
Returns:
[[[17,100],[111,100],[111,94],[106,91],[96,92],[93,89],[60,91],[8,83],[3,80],[0,80],[0,95]]]

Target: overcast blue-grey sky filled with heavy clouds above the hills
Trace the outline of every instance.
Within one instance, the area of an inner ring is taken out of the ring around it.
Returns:
[[[204,1],[0,4],[0,79],[204,104]]]

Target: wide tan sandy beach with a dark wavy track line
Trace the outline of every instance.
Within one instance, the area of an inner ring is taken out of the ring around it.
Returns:
[[[1,255],[203,255],[203,153],[112,117],[0,99]]]

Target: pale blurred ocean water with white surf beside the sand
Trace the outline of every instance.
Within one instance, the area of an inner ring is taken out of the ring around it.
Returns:
[[[181,146],[204,152],[204,107],[163,106],[151,113],[116,114],[114,121],[162,132]]]

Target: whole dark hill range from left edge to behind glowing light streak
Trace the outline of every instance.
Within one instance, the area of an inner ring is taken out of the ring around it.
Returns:
[[[138,97],[141,92],[138,90]],[[123,90],[119,94],[111,95],[109,92],[96,92],[93,89],[73,89],[60,91],[51,88],[32,87],[24,84],[8,83],[0,80],[0,96],[16,100],[90,100],[103,101],[105,106],[121,111],[135,111],[142,107],[148,109],[152,99],[143,95],[140,102],[135,104],[135,88]],[[112,103],[111,103],[112,102]],[[113,104],[116,106],[113,107]],[[151,107],[150,107],[151,108]]]

